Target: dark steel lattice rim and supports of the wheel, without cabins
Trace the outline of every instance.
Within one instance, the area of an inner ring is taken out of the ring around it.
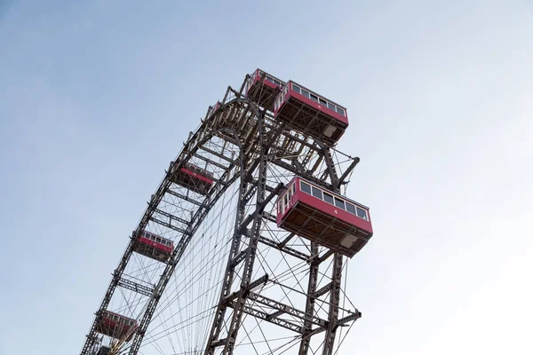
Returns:
[[[189,134],[135,228],[135,233],[149,227],[171,238],[175,248],[170,259],[166,263],[142,264],[143,261],[133,265],[132,257],[137,256],[135,240],[130,238],[95,313],[82,355],[97,353],[99,316],[108,309],[118,289],[121,294],[131,295],[123,302],[123,309],[140,307],[135,315],[139,327],[129,339],[112,342],[111,353],[139,353],[184,252],[191,241],[199,238],[199,227],[213,206],[234,184],[238,185],[236,213],[219,299],[211,304],[211,329],[203,339],[203,349],[191,353],[234,353],[244,319],[256,319],[258,325],[271,324],[294,335],[290,346],[298,354],[309,353],[314,339],[322,354],[332,354],[338,328],[361,317],[356,309],[348,311],[339,304],[346,266],[343,256],[294,233],[276,230],[271,212],[290,176],[305,177],[339,193],[359,159],[340,154],[286,123],[276,122],[269,110],[274,96],[264,106],[244,97],[248,77],[240,90],[229,87],[221,105],[210,107],[199,128]],[[339,161],[341,155],[344,159]],[[187,162],[210,167],[214,180],[210,193],[195,195],[173,183],[175,171]],[[267,267],[262,270],[268,272],[258,274],[257,265],[264,263],[263,256],[267,254],[287,265],[282,274]],[[299,273],[293,264],[298,265]],[[299,287],[300,282],[305,287]],[[270,349],[270,353],[284,350]]]

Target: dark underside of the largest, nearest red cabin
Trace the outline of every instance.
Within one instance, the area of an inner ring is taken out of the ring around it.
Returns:
[[[348,257],[357,254],[371,237],[371,233],[303,203],[290,210],[280,227]]]

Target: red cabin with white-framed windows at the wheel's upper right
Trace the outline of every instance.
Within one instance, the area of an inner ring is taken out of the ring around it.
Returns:
[[[274,117],[333,146],[348,127],[346,108],[289,81],[274,102]]]

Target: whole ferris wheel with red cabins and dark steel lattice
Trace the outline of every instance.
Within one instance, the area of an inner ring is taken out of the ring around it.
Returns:
[[[333,354],[372,236],[346,108],[257,69],[210,106],[131,232],[82,355]]]

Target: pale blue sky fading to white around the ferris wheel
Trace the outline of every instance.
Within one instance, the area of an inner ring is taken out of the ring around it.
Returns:
[[[80,350],[163,170],[256,67],[350,114],[375,236],[343,354],[533,353],[531,1],[152,3],[0,2],[0,353]]]

